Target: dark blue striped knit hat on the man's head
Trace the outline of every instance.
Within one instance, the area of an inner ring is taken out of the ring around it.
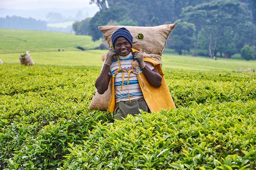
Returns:
[[[112,45],[113,48],[115,48],[115,42],[117,40],[118,37],[124,37],[125,39],[127,39],[129,41],[129,43],[131,44],[132,47],[132,34],[124,27],[117,29],[111,37],[111,41],[112,41]]]

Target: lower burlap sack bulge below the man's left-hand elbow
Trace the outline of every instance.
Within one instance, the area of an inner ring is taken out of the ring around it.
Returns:
[[[89,105],[89,109],[92,110],[97,110],[99,109],[100,111],[107,111],[108,107],[109,107],[109,101],[111,98],[111,79],[109,81],[109,87],[107,89],[107,91],[104,92],[104,94],[99,94],[97,92],[97,89],[95,91],[95,95],[93,96],[90,105]]]

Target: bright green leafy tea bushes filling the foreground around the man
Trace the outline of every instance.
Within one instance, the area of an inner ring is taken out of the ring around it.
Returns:
[[[0,67],[0,170],[256,169],[255,73],[164,71],[177,109],[113,121],[100,68]]]

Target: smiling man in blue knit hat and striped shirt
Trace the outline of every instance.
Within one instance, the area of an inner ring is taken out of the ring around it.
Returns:
[[[162,85],[162,76],[153,67],[153,64],[144,61],[143,54],[132,51],[132,35],[126,28],[117,29],[111,37],[113,48],[106,54],[102,72],[95,82],[99,94],[103,94],[112,77],[112,97],[109,111],[114,107],[114,118],[122,120],[128,114],[139,114],[139,109],[150,111],[144,99],[143,81],[148,81],[155,88]],[[137,61],[139,69],[134,67]],[[139,71],[139,73],[138,73]],[[143,72],[146,78],[139,81]],[[146,87],[147,89],[147,87]],[[169,91],[168,91],[169,92]]]

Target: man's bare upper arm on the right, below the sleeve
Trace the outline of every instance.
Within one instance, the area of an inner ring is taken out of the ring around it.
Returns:
[[[162,85],[162,76],[157,72],[157,70],[150,70],[147,65],[141,70],[146,75],[148,81],[152,85],[154,85],[155,87],[160,87]]]

